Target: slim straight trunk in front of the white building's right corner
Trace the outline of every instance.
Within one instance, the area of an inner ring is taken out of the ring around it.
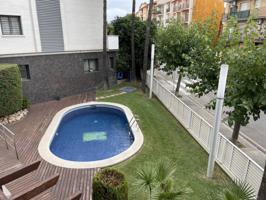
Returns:
[[[109,89],[109,67],[107,64],[107,0],[103,1],[103,71],[104,71],[104,87]]]

